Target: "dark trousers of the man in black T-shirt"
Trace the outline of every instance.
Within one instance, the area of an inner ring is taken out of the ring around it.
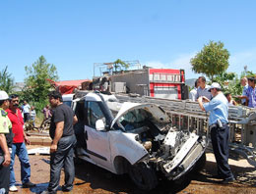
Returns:
[[[74,146],[75,135],[62,137],[58,142],[57,151],[50,154],[50,182],[48,191],[57,191],[61,169],[64,168],[66,189],[72,190],[75,178]]]

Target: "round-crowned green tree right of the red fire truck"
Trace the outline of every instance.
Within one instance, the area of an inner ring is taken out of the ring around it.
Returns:
[[[224,43],[210,41],[208,45],[190,60],[192,71],[204,73],[212,81],[216,75],[224,73],[228,68],[229,52],[224,49]]]

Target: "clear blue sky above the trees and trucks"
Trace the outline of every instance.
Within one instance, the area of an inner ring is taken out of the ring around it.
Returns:
[[[255,10],[254,0],[0,0],[0,71],[23,81],[43,55],[60,80],[116,59],[194,78],[190,59],[214,40],[230,52],[227,72],[256,73]]]

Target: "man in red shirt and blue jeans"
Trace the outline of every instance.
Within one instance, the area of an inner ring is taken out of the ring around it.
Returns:
[[[11,95],[10,108],[7,110],[8,117],[13,125],[13,145],[12,145],[12,154],[11,154],[11,175],[10,175],[10,191],[18,191],[15,186],[15,173],[14,173],[14,162],[15,155],[19,157],[21,162],[21,177],[24,188],[33,187],[33,184],[30,180],[31,178],[31,165],[29,160],[29,155],[25,142],[30,144],[30,140],[24,132],[24,120],[19,109],[19,96],[16,94]],[[25,142],[24,142],[25,141]]]

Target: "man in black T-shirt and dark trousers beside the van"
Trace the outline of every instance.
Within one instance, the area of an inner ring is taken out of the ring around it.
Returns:
[[[72,109],[63,104],[62,96],[58,91],[52,91],[48,95],[49,103],[53,108],[50,123],[50,182],[48,189],[43,194],[55,194],[60,180],[60,172],[64,167],[65,184],[62,191],[71,191],[75,178],[74,146],[76,137],[73,125],[78,121]]]

